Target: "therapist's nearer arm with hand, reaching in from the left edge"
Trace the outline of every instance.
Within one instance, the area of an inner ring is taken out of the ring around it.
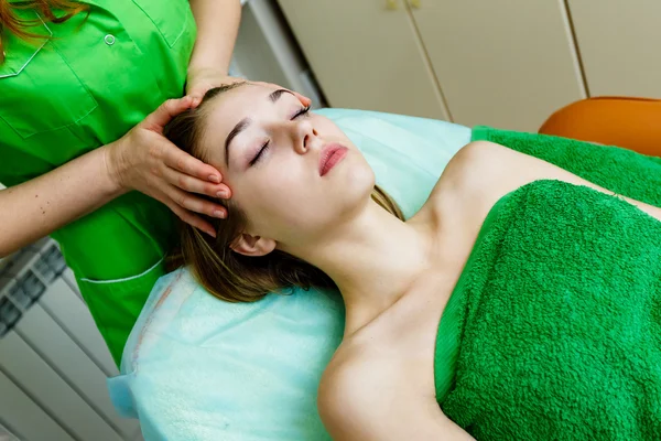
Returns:
[[[191,98],[165,101],[120,140],[0,191],[0,257],[130,190],[163,202],[183,220],[213,235],[212,226],[193,212],[209,215],[221,212],[217,217],[223,217],[225,208],[189,192],[217,197],[218,192],[229,195],[229,190],[220,184],[216,169],[183,152],[161,135],[170,118],[191,103]]]

